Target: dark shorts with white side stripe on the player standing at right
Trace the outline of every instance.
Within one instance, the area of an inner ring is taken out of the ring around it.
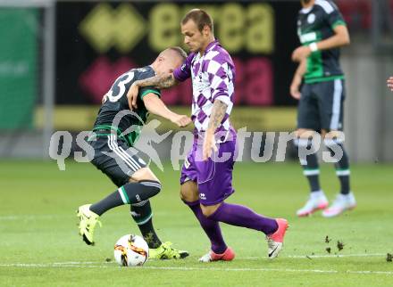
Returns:
[[[343,130],[345,87],[343,79],[305,84],[297,107],[297,128]]]

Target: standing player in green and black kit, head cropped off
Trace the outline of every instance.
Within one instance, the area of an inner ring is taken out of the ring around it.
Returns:
[[[317,155],[300,159],[311,194],[297,216],[303,217],[323,209],[323,217],[335,217],[355,208],[355,197],[349,185],[349,162],[344,150],[343,104],[345,98],[344,74],[339,65],[339,47],[349,45],[346,22],[338,7],[330,0],[301,0],[303,9],[298,14],[297,34],[301,42],[292,54],[299,66],[290,86],[290,94],[299,100],[297,111],[297,146],[311,148],[310,136],[321,133],[325,146],[335,154],[339,146],[342,157],[335,164],[341,191],[328,207],[328,200],[319,183]],[[299,88],[301,84],[301,91]],[[341,134],[342,135],[342,134]]]

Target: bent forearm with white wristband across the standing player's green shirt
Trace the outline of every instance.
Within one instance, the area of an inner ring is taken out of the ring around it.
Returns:
[[[329,50],[351,43],[347,26],[339,25],[334,28],[334,35],[321,42],[314,42],[310,45],[302,45],[292,53],[292,61],[302,61],[311,53],[319,50]]]

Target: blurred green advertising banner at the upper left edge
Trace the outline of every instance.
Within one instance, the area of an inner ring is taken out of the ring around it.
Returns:
[[[32,127],[38,33],[37,9],[0,9],[0,129]]]

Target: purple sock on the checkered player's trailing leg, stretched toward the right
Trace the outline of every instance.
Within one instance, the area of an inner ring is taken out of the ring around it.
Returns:
[[[209,218],[229,225],[259,230],[267,235],[275,233],[279,228],[276,220],[272,218],[263,217],[245,206],[225,202],[222,202]]]

